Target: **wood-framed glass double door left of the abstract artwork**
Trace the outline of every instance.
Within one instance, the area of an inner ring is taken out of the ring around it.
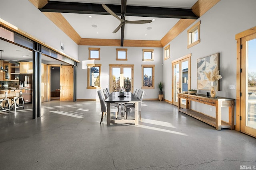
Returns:
[[[178,93],[190,89],[191,54],[172,61],[172,104],[178,106]],[[186,108],[186,100],[181,100],[181,107]]]

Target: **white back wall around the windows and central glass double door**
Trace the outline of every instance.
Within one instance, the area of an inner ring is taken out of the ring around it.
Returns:
[[[101,66],[101,88],[109,87],[109,64],[134,64],[134,88],[141,89],[142,64],[155,65],[155,89],[144,89],[144,99],[158,98],[158,83],[162,81],[162,48],[150,47],[107,47],[107,46],[79,46],[79,61],[77,68],[77,99],[97,99],[97,90],[87,88],[87,69],[82,69],[82,61],[88,60],[88,47],[100,48],[100,61],[95,60],[95,64]],[[127,48],[128,61],[116,61],[116,48]],[[142,49],[154,49],[154,61],[142,61]]]

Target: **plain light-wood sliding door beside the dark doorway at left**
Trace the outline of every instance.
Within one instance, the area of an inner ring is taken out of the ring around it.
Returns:
[[[60,68],[60,101],[73,101],[74,98],[74,69],[73,66]]]

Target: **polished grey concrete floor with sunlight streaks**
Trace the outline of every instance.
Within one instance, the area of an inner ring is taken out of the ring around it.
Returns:
[[[143,101],[142,122],[100,125],[100,103],[44,102],[0,114],[1,170],[239,170],[256,166],[256,139]],[[65,114],[65,115],[63,115]],[[76,117],[73,117],[76,116]],[[114,115],[113,115],[114,116]],[[129,115],[128,115],[129,116]],[[130,114],[132,116],[132,114]]]

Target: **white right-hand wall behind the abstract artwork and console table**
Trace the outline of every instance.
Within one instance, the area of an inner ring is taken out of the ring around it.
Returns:
[[[170,42],[171,59],[164,61],[163,80],[165,99],[172,101],[172,60],[192,53],[191,57],[191,88],[197,89],[197,66],[199,58],[220,53],[220,90],[218,96],[236,98],[236,90],[228,89],[228,85],[236,85],[236,40],[235,35],[256,26],[255,0],[221,0],[194,23],[201,21],[201,42],[187,49],[187,29]],[[192,24],[194,25],[194,24]],[[191,25],[191,26],[192,26]],[[191,27],[190,26],[190,27]],[[188,29],[190,28],[188,27]],[[198,93],[205,94],[205,90]],[[215,116],[206,105],[192,104],[196,109],[208,115]],[[226,114],[223,120],[227,121]]]

